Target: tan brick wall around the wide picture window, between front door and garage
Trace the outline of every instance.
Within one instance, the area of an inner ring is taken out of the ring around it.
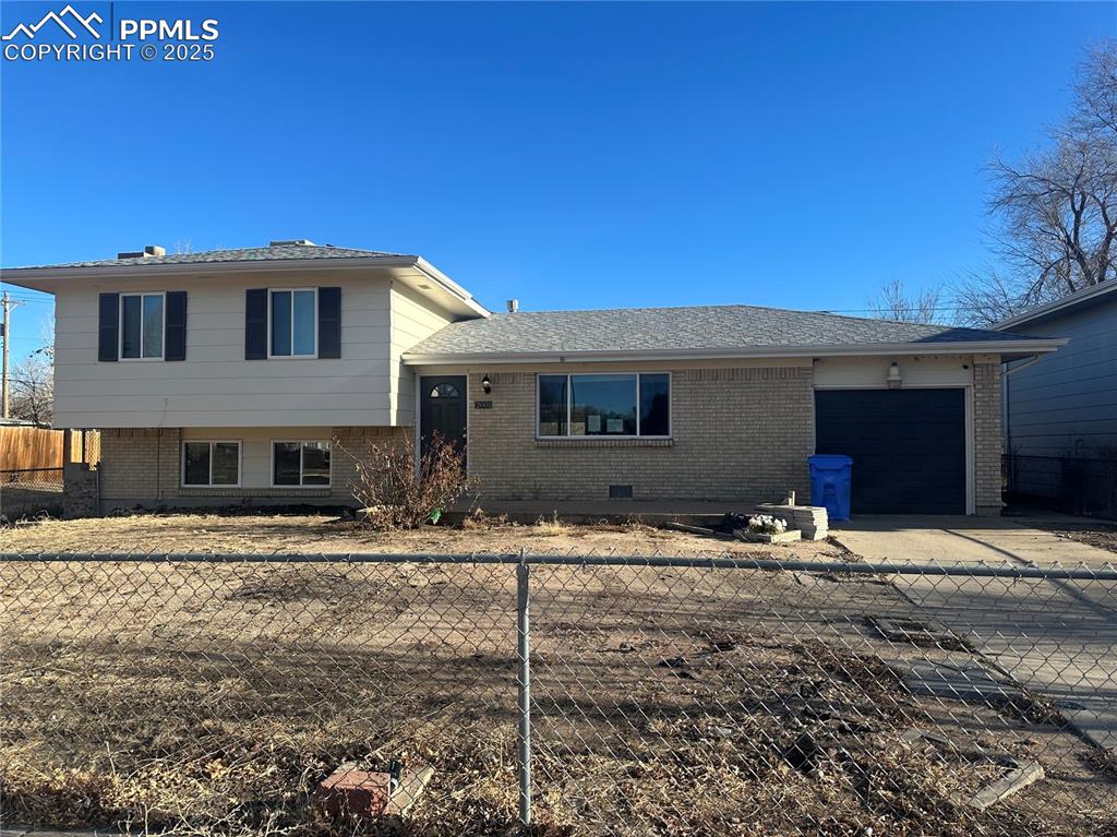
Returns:
[[[536,439],[535,373],[489,373],[491,409],[469,405],[469,473],[488,500],[782,500],[809,495],[814,444],[809,367],[671,372],[663,440]],[[469,380],[481,392],[481,373]]]

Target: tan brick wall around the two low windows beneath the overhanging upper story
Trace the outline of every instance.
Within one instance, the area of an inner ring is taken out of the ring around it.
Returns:
[[[182,432],[179,428],[116,428],[102,431],[101,510],[176,506],[236,505],[354,505],[356,479],[354,457],[366,454],[374,443],[393,436],[411,438],[410,427],[335,427],[331,454],[332,479],[328,489],[271,488],[184,488],[181,483]],[[297,430],[288,434],[297,438]]]

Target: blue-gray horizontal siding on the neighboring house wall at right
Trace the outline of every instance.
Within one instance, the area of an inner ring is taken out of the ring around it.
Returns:
[[[1117,449],[1117,296],[1012,331],[1070,342],[1005,378],[1006,451],[1092,458]]]

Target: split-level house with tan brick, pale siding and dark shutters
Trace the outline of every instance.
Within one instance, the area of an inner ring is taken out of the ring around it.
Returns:
[[[316,246],[4,269],[56,298],[55,424],[103,510],[350,502],[353,457],[468,436],[485,502],[809,496],[996,513],[1001,364],[1059,340],[745,305],[491,313],[419,256]],[[509,305],[509,308],[515,306]]]

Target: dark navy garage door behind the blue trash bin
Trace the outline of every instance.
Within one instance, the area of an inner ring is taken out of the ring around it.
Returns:
[[[965,514],[964,390],[818,390],[814,424],[853,457],[853,514]]]

